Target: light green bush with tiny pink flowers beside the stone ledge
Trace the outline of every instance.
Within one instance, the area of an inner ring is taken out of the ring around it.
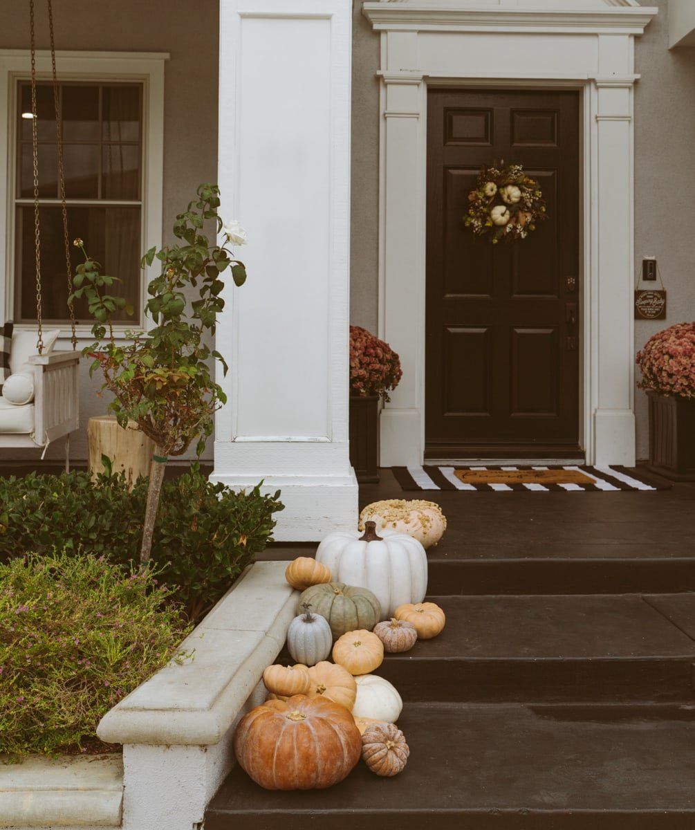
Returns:
[[[80,749],[189,630],[147,569],[30,554],[0,565],[0,752]]]

